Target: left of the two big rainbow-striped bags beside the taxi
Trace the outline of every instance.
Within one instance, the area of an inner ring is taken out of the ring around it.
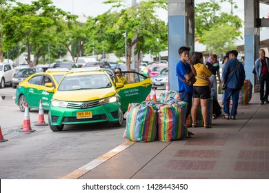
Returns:
[[[157,112],[152,105],[130,103],[123,137],[130,141],[150,142],[156,139]]]

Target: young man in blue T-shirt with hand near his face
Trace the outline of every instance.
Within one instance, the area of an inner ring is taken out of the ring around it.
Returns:
[[[179,85],[179,99],[188,103],[186,111],[186,119],[190,114],[190,109],[192,107],[192,93],[193,85],[187,85],[184,80],[190,80],[192,76],[196,77],[196,70],[192,65],[192,61],[189,58],[190,48],[182,46],[179,48],[180,61],[177,63],[177,81]],[[188,132],[192,135],[192,132]]]

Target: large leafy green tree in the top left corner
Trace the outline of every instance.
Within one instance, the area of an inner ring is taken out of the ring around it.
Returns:
[[[36,65],[43,50],[48,49],[48,43],[54,41],[51,30],[55,30],[59,20],[66,15],[50,0],[32,1],[31,4],[17,2],[17,6],[8,6],[3,18],[3,50],[11,50],[22,43],[28,52],[26,61],[30,66]],[[34,61],[30,60],[31,54],[34,54]]]

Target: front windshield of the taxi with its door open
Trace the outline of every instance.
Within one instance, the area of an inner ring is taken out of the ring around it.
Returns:
[[[110,88],[110,83],[106,74],[87,74],[79,76],[64,77],[61,81],[58,90],[88,90]]]

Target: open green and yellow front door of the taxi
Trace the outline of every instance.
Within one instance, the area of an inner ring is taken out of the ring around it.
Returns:
[[[146,97],[151,92],[152,81],[138,72],[122,73],[127,79],[127,84],[125,84],[123,88],[117,89],[117,92],[119,96],[121,96],[123,112],[126,112],[129,103],[141,103],[145,101]]]

